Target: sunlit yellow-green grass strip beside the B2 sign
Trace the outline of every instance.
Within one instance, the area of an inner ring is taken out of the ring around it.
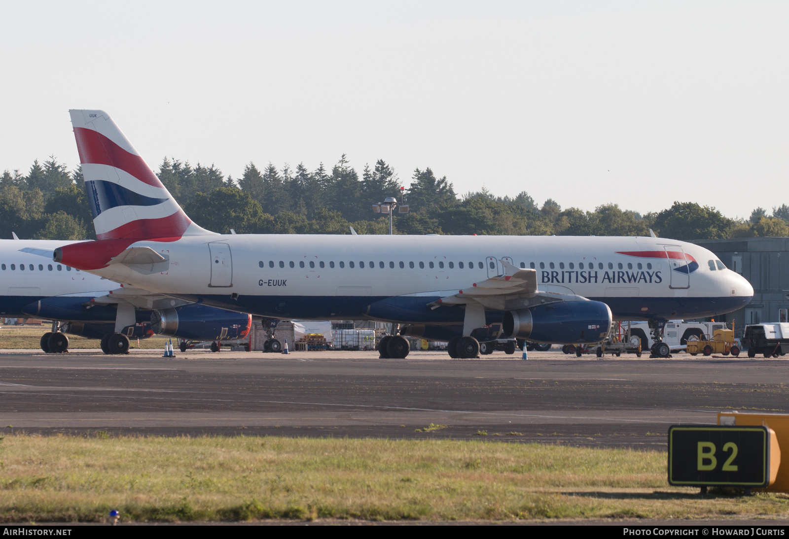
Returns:
[[[785,518],[783,494],[700,496],[666,455],[488,440],[0,440],[0,522]]]

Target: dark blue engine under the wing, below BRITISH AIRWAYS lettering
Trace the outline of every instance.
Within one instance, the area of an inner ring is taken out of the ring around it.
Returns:
[[[583,344],[603,340],[611,309],[600,301],[559,301],[504,314],[504,335],[540,343]]]

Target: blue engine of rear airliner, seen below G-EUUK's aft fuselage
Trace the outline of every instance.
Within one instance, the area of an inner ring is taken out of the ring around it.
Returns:
[[[252,315],[192,304],[153,311],[151,325],[157,334],[186,340],[243,339],[252,328]]]

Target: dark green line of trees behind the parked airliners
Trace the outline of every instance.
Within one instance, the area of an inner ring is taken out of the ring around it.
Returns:
[[[416,169],[409,180],[398,178],[380,159],[361,175],[346,155],[327,169],[321,163],[258,169],[250,162],[239,178],[225,177],[214,165],[164,158],[159,180],[186,214],[214,232],[263,234],[385,234],[388,217],[372,212],[387,197],[409,205],[409,214],[394,217],[398,234],[658,236],[676,240],[789,236],[789,206],[758,207],[749,219],[725,217],[712,206],[675,202],[660,212],[640,214],[618,204],[593,211],[562,209],[553,199],[535,203],[526,191],[495,196],[486,188],[458,195],[447,177]],[[401,187],[405,189],[401,191]],[[33,162],[28,173],[5,170],[0,178],[0,237],[40,240],[95,238],[80,167],[69,171],[50,156]]]

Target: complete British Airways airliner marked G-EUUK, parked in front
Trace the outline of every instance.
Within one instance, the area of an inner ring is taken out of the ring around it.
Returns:
[[[712,252],[656,237],[220,235],[187,217],[102,110],[71,110],[98,240],[54,261],[269,318],[371,319],[476,357],[499,336],[595,343],[612,320],[709,317],[753,288]],[[656,350],[653,350],[656,354]]]

